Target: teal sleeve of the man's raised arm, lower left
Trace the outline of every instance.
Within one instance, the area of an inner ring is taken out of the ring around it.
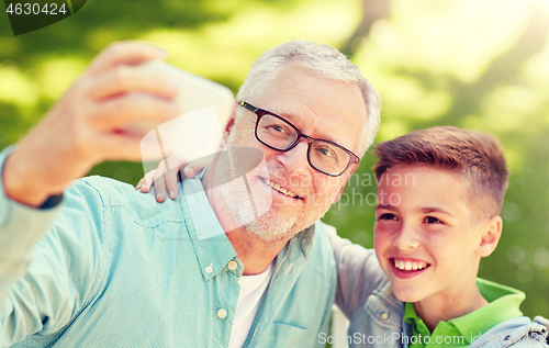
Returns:
[[[0,173],[10,150],[0,154]],[[0,184],[0,347],[63,329],[97,291],[102,213],[85,180],[49,209],[10,200]]]

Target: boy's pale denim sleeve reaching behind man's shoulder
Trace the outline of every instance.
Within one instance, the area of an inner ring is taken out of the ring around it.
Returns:
[[[339,237],[333,226],[325,225],[325,228],[332,240],[337,268],[335,303],[351,318],[385,279],[385,274],[373,249]]]

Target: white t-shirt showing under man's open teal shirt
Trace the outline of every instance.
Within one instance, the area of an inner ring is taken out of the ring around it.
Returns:
[[[272,263],[259,274],[242,276],[238,280],[240,294],[236,303],[235,319],[231,330],[228,348],[240,348],[248,337],[249,329],[256,317],[261,296],[272,276]]]

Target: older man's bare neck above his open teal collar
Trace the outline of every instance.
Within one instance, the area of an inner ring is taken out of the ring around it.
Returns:
[[[208,167],[202,186],[212,206],[212,210],[217,217],[221,227],[225,231],[228,240],[238,256],[238,259],[244,265],[244,276],[253,276],[264,272],[269,265],[274,260],[277,255],[282,250],[290,238],[284,238],[278,242],[266,243],[254,233],[243,226],[238,226],[235,218],[229,213],[225,202],[220,197],[219,191],[211,189],[213,184],[213,176],[215,166]]]

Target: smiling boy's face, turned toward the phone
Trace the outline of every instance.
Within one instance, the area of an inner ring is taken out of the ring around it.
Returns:
[[[466,287],[475,287],[486,224],[471,222],[458,175],[425,166],[395,167],[383,175],[374,245],[399,300],[456,299]]]

